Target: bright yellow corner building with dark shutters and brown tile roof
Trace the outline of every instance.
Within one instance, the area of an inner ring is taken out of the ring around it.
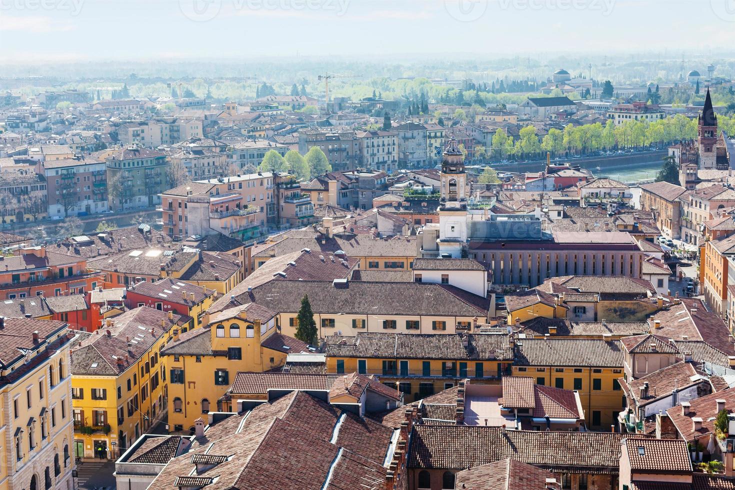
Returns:
[[[165,414],[160,350],[181,317],[148,306],[105,320],[71,353],[74,455],[115,459]]]

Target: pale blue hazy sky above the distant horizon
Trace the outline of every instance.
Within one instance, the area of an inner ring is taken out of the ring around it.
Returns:
[[[735,46],[735,0],[0,0],[0,61]]]

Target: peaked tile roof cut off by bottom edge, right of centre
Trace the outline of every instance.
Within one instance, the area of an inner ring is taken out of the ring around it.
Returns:
[[[466,490],[561,488],[558,484],[547,486],[546,480],[549,478],[556,479],[553,473],[545,469],[506,458],[458,472],[455,475],[454,488]]]

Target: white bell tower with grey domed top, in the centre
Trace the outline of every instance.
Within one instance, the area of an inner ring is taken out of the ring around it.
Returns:
[[[467,173],[456,140],[449,140],[442,153],[440,181],[439,253],[462,257],[467,243]]]

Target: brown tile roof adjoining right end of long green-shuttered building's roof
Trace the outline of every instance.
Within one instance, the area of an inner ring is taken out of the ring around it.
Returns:
[[[600,339],[519,339],[518,366],[623,367],[620,341]]]

